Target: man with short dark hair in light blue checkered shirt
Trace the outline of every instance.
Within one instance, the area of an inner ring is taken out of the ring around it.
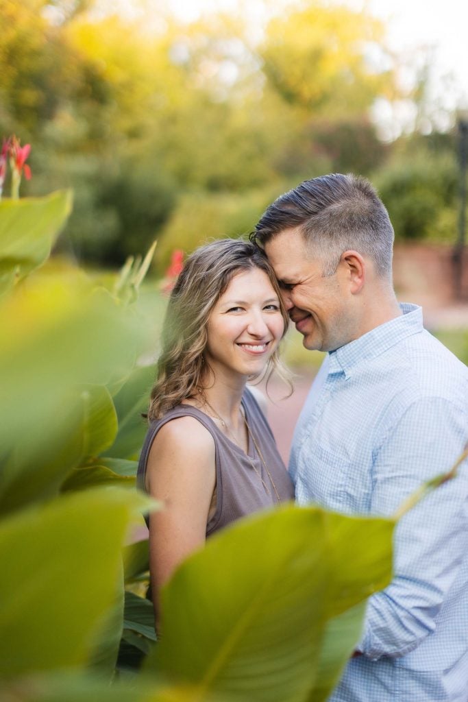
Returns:
[[[295,430],[297,501],[393,515],[462,453],[468,369],[397,303],[385,206],[363,178],[314,178],[252,239],[305,347],[328,352]],[[394,580],[370,597],[333,702],[467,702],[468,461],[459,472],[399,522]]]

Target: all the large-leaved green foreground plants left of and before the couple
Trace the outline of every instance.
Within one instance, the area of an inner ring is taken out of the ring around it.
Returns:
[[[40,232],[34,251],[55,235]],[[239,520],[163,588],[156,643],[147,541],[128,541],[161,505],[121,489],[154,373],[135,300],[151,256],[118,294],[45,265],[0,304],[0,696],[324,702],[391,578],[394,519],[284,505]]]

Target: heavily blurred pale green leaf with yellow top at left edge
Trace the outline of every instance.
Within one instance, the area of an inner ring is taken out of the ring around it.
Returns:
[[[72,467],[113,442],[114,405],[99,386],[128,373],[147,339],[134,314],[73,271],[67,279],[32,278],[0,305],[7,509],[50,496]]]

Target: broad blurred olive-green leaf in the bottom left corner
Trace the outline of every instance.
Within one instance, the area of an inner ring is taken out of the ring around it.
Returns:
[[[121,544],[143,503],[136,493],[95,490],[0,523],[0,677],[85,663],[114,602]]]

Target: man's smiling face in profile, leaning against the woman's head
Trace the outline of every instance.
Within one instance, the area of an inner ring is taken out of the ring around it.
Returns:
[[[333,351],[352,338],[352,310],[347,267],[323,277],[322,263],[307,251],[299,229],[276,234],[265,245],[290,319],[309,350]]]

